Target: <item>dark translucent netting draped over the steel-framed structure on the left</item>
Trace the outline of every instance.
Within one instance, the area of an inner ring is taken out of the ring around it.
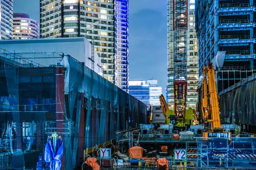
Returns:
[[[45,148],[56,133],[61,166],[71,170],[85,149],[146,123],[145,104],[70,56],[49,67],[0,51],[0,87],[1,168],[49,167],[56,157],[47,163]]]

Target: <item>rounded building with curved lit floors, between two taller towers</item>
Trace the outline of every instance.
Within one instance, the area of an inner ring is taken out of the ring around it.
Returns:
[[[29,18],[28,14],[13,14],[13,39],[39,38],[38,22]]]

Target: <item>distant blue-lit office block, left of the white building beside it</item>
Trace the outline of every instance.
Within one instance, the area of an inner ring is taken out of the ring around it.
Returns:
[[[129,94],[149,105],[149,85],[145,81],[129,81]]]

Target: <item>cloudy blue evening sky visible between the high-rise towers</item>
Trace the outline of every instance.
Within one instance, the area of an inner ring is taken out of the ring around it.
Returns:
[[[40,0],[14,0],[14,12],[40,22]],[[129,0],[129,79],[167,85],[167,2]]]

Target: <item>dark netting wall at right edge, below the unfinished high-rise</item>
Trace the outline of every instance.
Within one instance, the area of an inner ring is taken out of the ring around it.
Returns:
[[[219,94],[221,121],[256,125],[256,75],[236,83]]]

